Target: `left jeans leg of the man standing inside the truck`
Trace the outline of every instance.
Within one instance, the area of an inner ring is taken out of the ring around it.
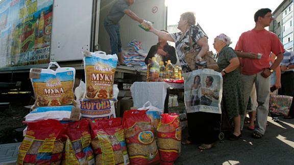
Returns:
[[[115,24],[111,24],[107,20],[105,20],[104,27],[106,29],[106,32],[109,35],[111,54],[118,54],[118,49],[117,49],[118,38],[117,38],[117,34],[116,34]]]

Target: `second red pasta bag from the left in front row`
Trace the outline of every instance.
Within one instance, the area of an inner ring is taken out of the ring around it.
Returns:
[[[81,120],[68,123],[66,135],[68,138],[65,143],[62,164],[94,164],[88,121]]]

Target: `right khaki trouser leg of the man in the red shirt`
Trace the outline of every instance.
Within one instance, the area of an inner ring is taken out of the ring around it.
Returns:
[[[257,74],[255,87],[257,93],[257,127],[255,131],[264,134],[266,129],[268,104],[269,104],[269,77],[264,78],[260,73]]]

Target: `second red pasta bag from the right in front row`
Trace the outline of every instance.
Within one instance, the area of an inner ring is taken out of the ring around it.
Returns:
[[[131,164],[159,163],[157,144],[151,119],[146,111],[125,111],[122,118]]]

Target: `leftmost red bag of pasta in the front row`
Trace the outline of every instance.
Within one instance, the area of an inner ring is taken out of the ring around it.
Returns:
[[[29,122],[19,147],[17,164],[60,164],[64,126],[53,119]]]

